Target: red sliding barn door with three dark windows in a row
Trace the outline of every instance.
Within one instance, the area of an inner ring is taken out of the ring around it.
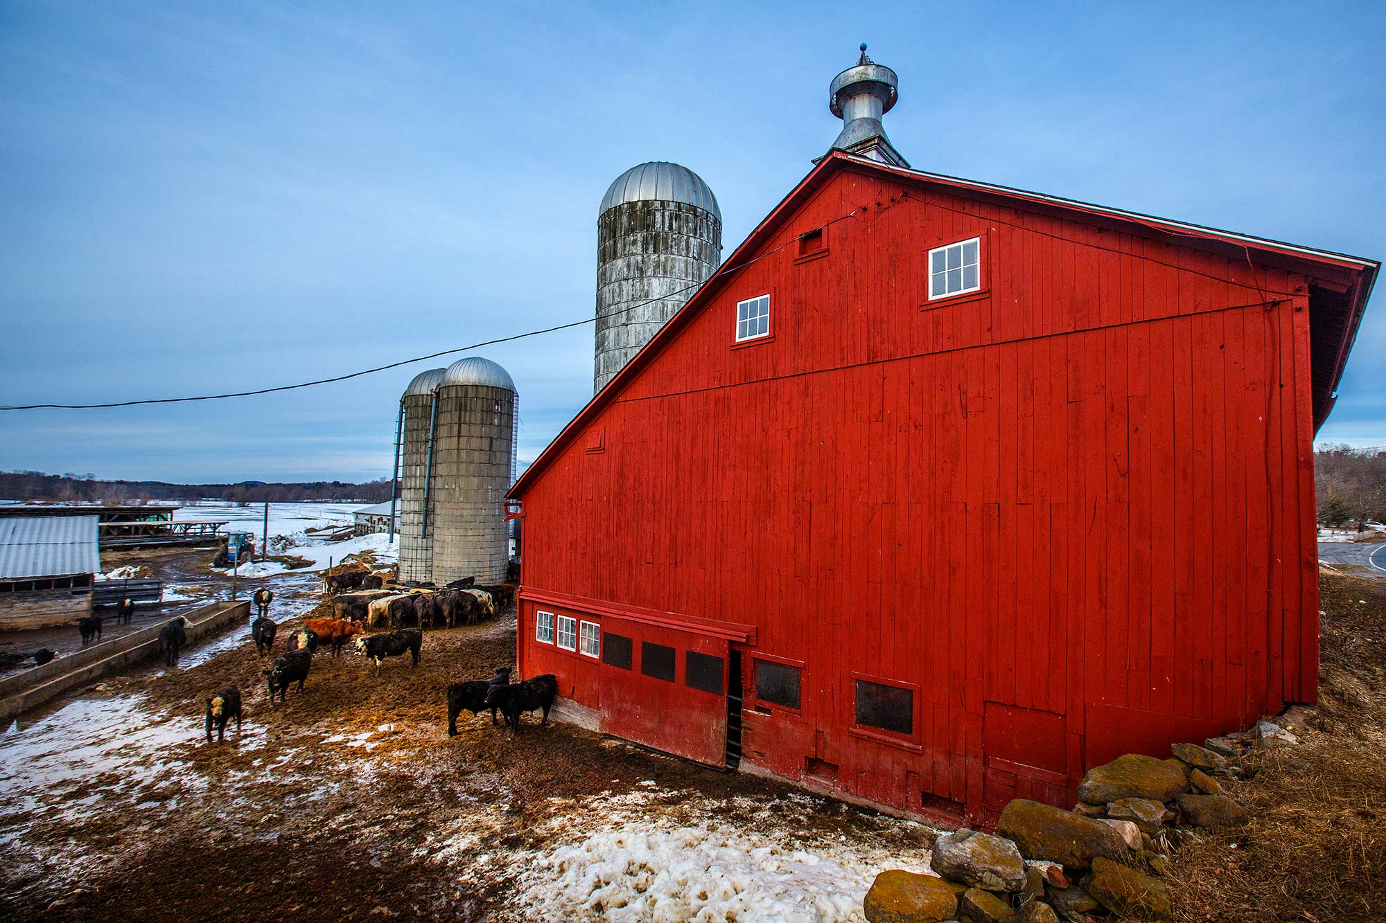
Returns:
[[[602,730],[714,766],[726,764],[728,643],[607,617]]]

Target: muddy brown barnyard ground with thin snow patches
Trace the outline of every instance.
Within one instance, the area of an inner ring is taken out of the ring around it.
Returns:
[[[316,601],[286,589],[277,619]],[[613,805],[786,847],[870,843],[918,861],[933,840],[536,715],[511,733],[464,712],[449,739],[446,685],[513,662],[513,614],[427,632],[416,669],[320,653],[283,705],[237,640],[245,626],[231,631],[205,662],[194,651],[186,668],[108,680],[0,733],[0,916],[553,919],[523,899],[523,879],[557,843],[611,823]],[[208,744],[204,700],[230,683],[244,726]]]

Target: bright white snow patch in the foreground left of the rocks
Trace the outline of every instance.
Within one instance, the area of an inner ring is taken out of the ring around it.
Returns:
[[[901,855],[859,837],[807,836],[812,819],[797,825],[793,811],[730,798],[694,807],[692,816],[660,816],[656,804],[665,798],[632,793],[574,811],[564,826],[597,816],[597,829],[525,859],[521,904],[541,919],[837,923],[865,919],[862,898],[880,872],[930,873],[927,850]],[[796,809],[805,815],[821,809],[801,801]],[[747,811],[764,816],[719,819]]]

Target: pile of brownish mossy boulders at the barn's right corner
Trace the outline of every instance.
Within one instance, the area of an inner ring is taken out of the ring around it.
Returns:
[[[1252,730],[1179,743],[1168,759],[1127,754],[1089,769],[1071,811],[1016,798],[997,833],[955,830],[934,843],[930,869],[881,872],[866,893],[870,923],[1089,923],[1164,919],[1160,874],[1181,827],[1246,823],[1218,779],[1239,777],[1256,750],[1299,743],[1307,714],[1290,708]]]

